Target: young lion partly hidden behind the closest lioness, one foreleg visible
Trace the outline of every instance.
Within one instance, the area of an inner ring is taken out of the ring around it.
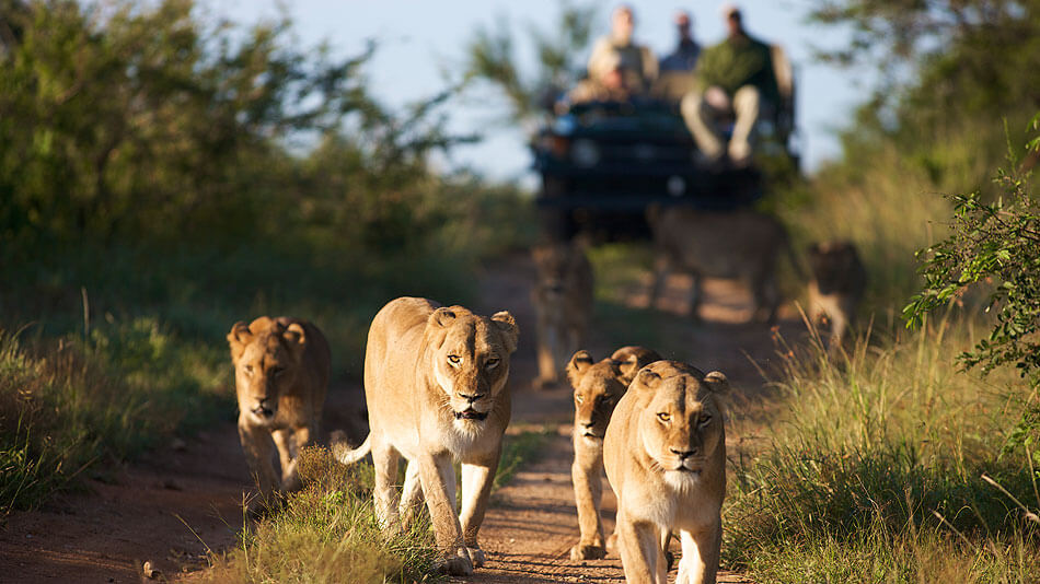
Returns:
[[[570,548],[571,560],[596,560],[606,556],[600,501],[603,483],[603,434],[614,406],[625,394],[632,378],[644,365],[660,360],[643,347],[622,347],[610,358],[596,363],[588,351],[578,351],[567,365],[574,386],[574,480],[575,504],[581,539]]]

